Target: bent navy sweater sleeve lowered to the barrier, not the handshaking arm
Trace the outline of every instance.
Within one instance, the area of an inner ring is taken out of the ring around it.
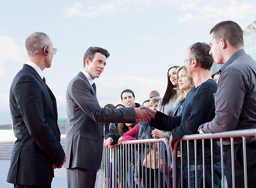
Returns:
[[[202,123],[205,123],[214,112],[213,91],[203,88],[194,98],[191,104],[191,112],[182,125],[172,130],[172,138],[174,143],[184,135],[197,134],[197,130]]]

